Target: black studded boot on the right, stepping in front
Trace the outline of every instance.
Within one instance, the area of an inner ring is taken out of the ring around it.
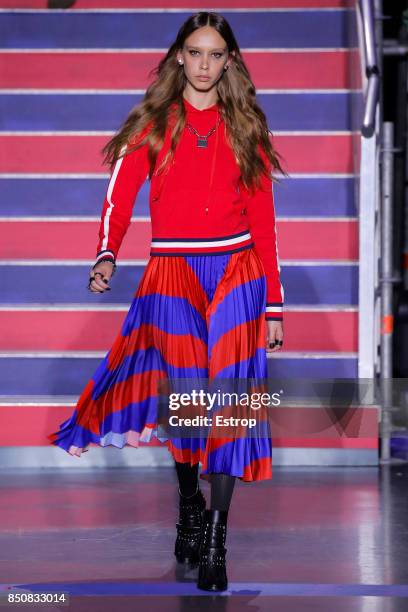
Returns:
[[[199,589],[224,591],[228,587],[224,547],[227,535],[226,510],[205,510],[201,528]]]

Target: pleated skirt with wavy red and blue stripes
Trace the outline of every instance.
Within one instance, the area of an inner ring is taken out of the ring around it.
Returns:
[[[265,304],[265,272],[253,247],[217,255],[151,256],[112,347],[72,416],[48,439],[80,456],[90,444],[138,447],[156,437],[176,461],[199,462],[205,480],[214,472],[244,482],[271,478],[267,410],[254,415],[255,428],[240,424],[224,428],[224,434],[221,427],[207,426],[197,436],[192,428],[185,436],[170,435],[174,428],[163,427],[160,392],[172,379],[211,381],[213,389],[218,380],[224,386],[228,380],[251,381],[252,391],[265,391]],[[219,403],[200,414],[214,422],[223,412],[251,416],[247,409]]]

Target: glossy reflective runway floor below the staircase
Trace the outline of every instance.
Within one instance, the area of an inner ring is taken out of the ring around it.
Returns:
[[[207,594],[173,555],[173,468],[2,471],[0,608],[406,611],[407,484],[402,463],[276,467],[272,480],[238,481],[229,589]],[[7,603],[50,592],[69,601]]]

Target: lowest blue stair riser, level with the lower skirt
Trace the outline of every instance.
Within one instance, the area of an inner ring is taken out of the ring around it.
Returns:
[[[118,330],[119,331],[119,330]],[[2,395],[79,395],[103,357],[2,357]],[[354,378],[357,358],[268,359],[271,378]]]

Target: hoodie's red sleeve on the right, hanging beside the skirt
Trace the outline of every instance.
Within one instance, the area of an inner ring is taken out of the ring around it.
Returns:
[[[261,147],[259,147],[259,152],[270,175],[271,163]],[[267,178],[262,174],[260,188],[256,190],[255,194],[250,197],[245,187],[243,188],[243,194],[249,230],[266,274],[266,319],[281,321],[283,319],[284,289],[280,281],[272,178]]]

